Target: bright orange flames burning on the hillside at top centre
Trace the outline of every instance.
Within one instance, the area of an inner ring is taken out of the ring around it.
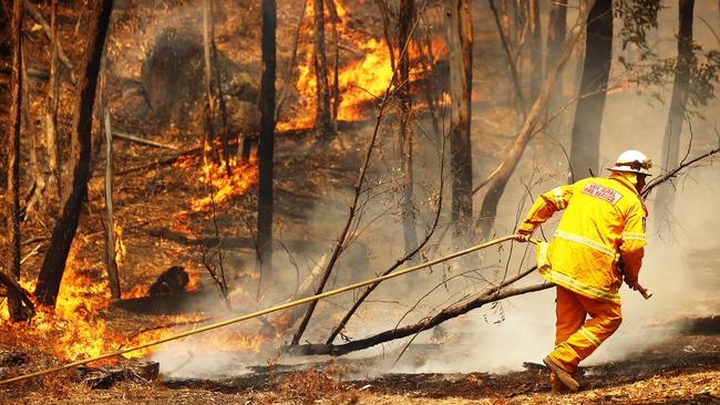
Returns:
[[[341,65],[338,71],[338,87],[340,92],[340,103],[338,106],[338,121],[366,121],[372,117],[372,108],[367,105],[372,103],[378,97],[381,97],[385,89],[392,81],[392,63],[390,58],[390,50],[384,39],[374,39],[367,37],[363,38],[357,30],[351,30],[347,24],[347,11],[339,0],[335,0],[338,11],[338,34],[340,41],[350,43],[357,48],[362,56],[351,60],[349,62],[340,61]],[[313,38],[312,29],[312,2],[307,4],[307,17],[304,20],[302,33],[305,38]],[[330,24],[330,15],[326,8],[326,21]],[[330,32],[330,28],[326,27],[326,33]],[[446,45],[441,40],[432,40],[432,54],[433,62],[436,62],[441,56],[448,53]],[[329,48],[329,46],[328,46]],[[420,58],[429,55],[430,50],[428,45],[423,45],[422,50],[418,49],[416,44],[412,42],[408,48],[408,55],[411,61],[410,81],[414,82],[425,74]],[[317,108],[317,80],[315,74],[313,64],[313,44],[311,41],[306,45],[304,58],[301,56],[298,65],[298,80],[296,89],[300,95],[300,115],[290,118],[286,122],[280,122],[277,125],[278,131],[309,128],[315,125],[315,112]],[[400,52],[395,51],[395,63],[399,60]],[[328,56],[330,52],[328,51]],[[329,69],[331,71],[331,69]],[[330,83],[332,83],[332,73],[330,72]]]

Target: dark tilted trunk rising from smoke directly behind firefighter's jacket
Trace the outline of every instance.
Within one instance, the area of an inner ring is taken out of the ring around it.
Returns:
[[[570,170],[573,181],[597,174],[600,126],[613,56],[613,1],[597,0],[587,17],[580,101],[575,111]]]

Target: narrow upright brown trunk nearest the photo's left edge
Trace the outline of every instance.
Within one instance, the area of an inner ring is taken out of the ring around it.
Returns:
[[[12,4],[10,44],[12,45],[12,73],[10,77],[10,131],[8,136],[8,189],[6,191],[6,204],[8,207],[8,241],[10,249],[6,257],[6,263],[10,277],[20,278],[20,103],[22,97],[22,0],[14,0]],[[22,301],[13,290],[8,290],[8,312],[10,320],[21,321],[23,316]]]

